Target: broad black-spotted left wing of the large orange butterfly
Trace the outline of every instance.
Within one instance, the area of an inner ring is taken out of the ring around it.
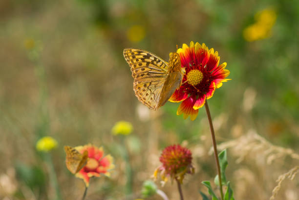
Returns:
[[[157,110],[169,74],[167,62],[141,49],[124,49],[124,57],[131,67],[135,96],[149,109]]]

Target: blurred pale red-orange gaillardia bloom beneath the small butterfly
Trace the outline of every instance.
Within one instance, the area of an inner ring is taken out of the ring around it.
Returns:
[[[97,148],[92,144],[75,147],[77,151],[83,154],[88,152],[86,165],[76,173],[76,177],[84,180],[86,187],[89,186],[90,177],[100,177],[102,174],[110,176],[110,171],[114,169],[113,158],[110,155],[104,156],[103,148]]]

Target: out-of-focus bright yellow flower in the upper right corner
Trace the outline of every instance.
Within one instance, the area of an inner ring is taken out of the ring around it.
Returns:
[[[247,26],[243,31],[244,39],[255,41],[269,38],[276,18],[277,14],[274,9],[268,8],[256,13],[256,23]]]

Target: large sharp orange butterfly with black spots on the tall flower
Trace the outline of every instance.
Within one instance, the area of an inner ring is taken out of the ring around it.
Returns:
[[[124,57],[131,67],[135,96],[149,109],[163,106],[180,88],[185,74],[177,53],[169,54],[169,62],[145,50],[124,49]]]

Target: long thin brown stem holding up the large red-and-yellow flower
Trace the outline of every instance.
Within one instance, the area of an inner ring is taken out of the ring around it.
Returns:
[[[212,122],[212,118],[211,118],[211,113],[210,113],[210,109],[209,109],[209,105],[208,105],[207,100],[205,102],[205,107],[206,107],[206,112],[207,112],[207,116],[208,116],[208,120],[209,120],[209,124],[210,124],[211,135],[212,135],[212,141],[213,141],[213,147],[214,147],[214,156],[215,156],[215,160],[216,160],[218,178],[219,178],[221,200],[223,200],[221,170],[220,170],[220,164],[219,164],[219,158],[218,158],[218,152],[217,152],[217,144],[216,144],[216,139],[215,139],[215,132],[214,132],[213,122]]]

